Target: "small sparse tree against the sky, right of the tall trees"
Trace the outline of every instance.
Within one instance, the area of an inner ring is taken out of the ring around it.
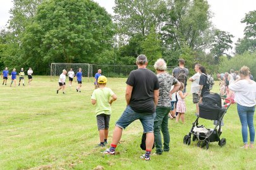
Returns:
[[[212,44],[212,49],[210,49],[211,54],[214,56],[216,63],[219,63],[219,57],[222,55],[229,56],[226,52],[231,48],[233,41],[231,38],[234,36],[226,31],[215,30],[214,32],[214,43]]]

